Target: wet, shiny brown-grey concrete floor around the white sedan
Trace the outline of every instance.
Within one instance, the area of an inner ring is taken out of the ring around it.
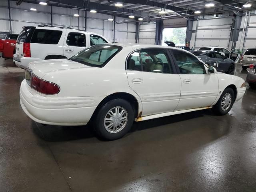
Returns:
[[[87,126],[28,118],[19,103],[23,78],[0,58],[1,192],[256,191],[256,90],[226,116],[202,110],[135,122],[106,142]]]

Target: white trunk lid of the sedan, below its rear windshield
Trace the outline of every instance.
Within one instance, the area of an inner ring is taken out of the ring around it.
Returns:
[[[33,73],[43,78],[44,75],[50,72],[58,72],[61,70],[73,70],[78,68],[92,68],[90,66],[74,62],[68,59],[50,59],[31,62],[28,67],[32,69]]]

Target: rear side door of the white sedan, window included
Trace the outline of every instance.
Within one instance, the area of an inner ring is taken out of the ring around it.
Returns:
[[[130,88],[142,100],[142,116],[174,111],[180,100],[180,76],[166,49],[148,48],[127,59]]]

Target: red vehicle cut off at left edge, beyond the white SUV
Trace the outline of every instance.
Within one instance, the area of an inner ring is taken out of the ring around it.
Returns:
[[[15,44],[18,34],[7,34],[0,39],[0,56],[3,58],[12,58],[15,52]]]

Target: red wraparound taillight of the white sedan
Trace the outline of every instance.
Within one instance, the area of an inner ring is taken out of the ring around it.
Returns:
[[[34,74],[31,78],[31,87],[42,94],[57,94],[60,87],[57,84],[43,80]]]

